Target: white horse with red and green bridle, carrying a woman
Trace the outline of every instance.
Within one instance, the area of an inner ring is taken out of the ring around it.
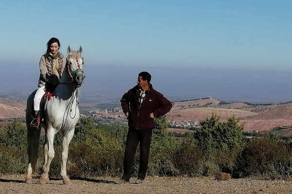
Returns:
[[[66,173],[66,162],[68,158],[68,147],[73,138],[74,129],[79,120],[79,110],[77,107],[78,87],[82,84],[85,76],[83,75],[83,58],[81,57],[82,48],[73,51],[70,46],[67,49],[66,68],[60,78],[60,83],[52,93],[52,97],[45,106],[45,121],[40,123],[40,128],[45,130],[44,161],[43,173],[39,178],[40,184],[49,181],[49,168],[55,156],[54,136],[58,131],[63,134],[62,141],[62,163],[61,176],[64,184],[71,184]],[[32,183],[32,171],[37,167],[37,152],[39,146],[40,129],[30,127],[33,120],[33,100],[36,91],[27,99],[26,107],[26,126],[28,144],[28,168],[26,182]]]

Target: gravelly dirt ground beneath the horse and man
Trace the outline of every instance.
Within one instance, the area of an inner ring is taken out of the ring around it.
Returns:
[[[73,179],[73,185],[63,185],[61,179],[52,179],[46,185],[25,183],[25,175],[0,177],[0,194],[291,194],[292,181],[260,180],[254,178],[230,179],[188,177],[147,177],[143,184],[118,185],[118,178],[99,177]]]

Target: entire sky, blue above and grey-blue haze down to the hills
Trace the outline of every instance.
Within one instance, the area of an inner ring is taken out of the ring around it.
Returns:
[[[292,1],[1,3],[0,93],[37,87],[51,37],[83,47],[83,92],[123,94],[140,71],[169,97],[292,100]]]

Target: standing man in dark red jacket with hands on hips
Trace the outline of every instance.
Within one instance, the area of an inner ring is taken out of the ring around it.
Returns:
[[[143,183],[146,177],[154,118],[168,113],[171,102],[150,84],[151,75],[143,71],[139,73],[137,85],[130,89],[121,99],[123,112],[128,119],[128,135],[124,157],[124,175],[118,184],[130,180],[134,155],[140,143],[140,163],[136,183]]]

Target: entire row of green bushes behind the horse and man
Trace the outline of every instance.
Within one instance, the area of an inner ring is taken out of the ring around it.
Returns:
[[[183,142],[168,136],[166,118],[155,120],[148,163],[149,176],[213,176],[218,172],[236,177],[292,177],[292,142],[274,132],[261,134],[248,141],[242,138],[243,127],[234,117],[220,122],[216,115],[201,121],[201,129],[188,133]],[[127,127],[95,125],[82,118],[69,146],[67,161],[71,177],[121,176]],[[42,172],[44,137],[40,139],[37,174]],[[26,128],[14,120],[0,130],[0,174],[25,173],[27,168]],[[62,134],[54,142],[55,158],[50,176],[60,177]],[[139,168],[139,147],[133,176]]]

